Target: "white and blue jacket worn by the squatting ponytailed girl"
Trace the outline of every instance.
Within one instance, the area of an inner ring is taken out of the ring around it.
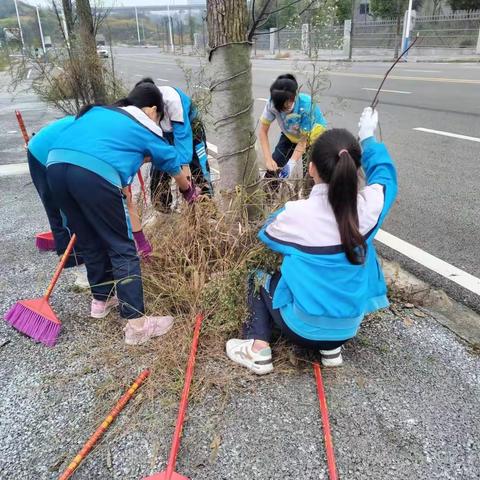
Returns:
[[[358,194],[358,217],[367,246],[364,264],[351,264],[343,252],[327,184],[315,185],[308,199],[287,202],[259,233],[283,255],[273,306],[303,338],[352,338],[366,314],[388,306],[373,239],[395,200],[397,175],[383,144],[370,137],[362,147],[366,186]]]

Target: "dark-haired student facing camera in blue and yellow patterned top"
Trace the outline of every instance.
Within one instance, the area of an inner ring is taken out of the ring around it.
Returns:
[[[268,132],[275,120],[281,134],[272,153]],[[267,167],[265,178],[288,177],[294,162],[302,159],[307,144],[313,143],[326,128],[320,108],[310,95],[298,91],[295,77],[289,73],[280,75],[270,86],[270,99],[260,117],[258,138]]]

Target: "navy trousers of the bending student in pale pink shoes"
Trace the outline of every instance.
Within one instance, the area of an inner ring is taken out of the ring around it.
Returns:
[[[77,234],[93,297],[105,301],[116,291],[122,317],[141,317],[140,260],[121,189],[68,163],[50,165],[47,178],[55,202]]]

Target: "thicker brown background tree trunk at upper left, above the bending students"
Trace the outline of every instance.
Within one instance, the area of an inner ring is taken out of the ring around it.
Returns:
[[[97,55],[95,28],[89,0],[77,0],[78,27],[80,33],[80,51],[85,74],[92,90],[95,103],[105,103],[105,84],[102,74],[101,60]]]

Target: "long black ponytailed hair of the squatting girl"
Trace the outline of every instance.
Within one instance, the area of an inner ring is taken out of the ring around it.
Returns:
[[[361,149],[355,137],[343,128],[327,130],[318,137],[310,161],[328,183],[328,201],[337,220],[340,239],[350,263],[365,261],[365,240],[359,230],[357,195]]]

